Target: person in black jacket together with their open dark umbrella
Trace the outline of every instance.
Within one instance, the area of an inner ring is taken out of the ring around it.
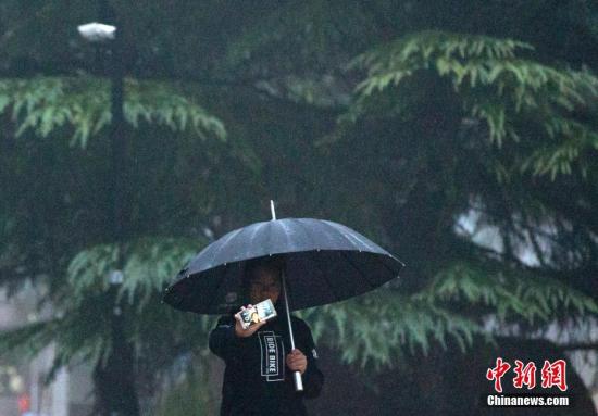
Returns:
[[[164,303],[179,311],[229,314],[210,337],[210,348],[226,363],[223,415],[256,414],[262,405],[262,413],[277,408],[277,414],[304,415],[302,399],[320,394],[323,376],[311,331],[290,311],[366,293],[399,277],[404,266],[347,226],[315,218],[276,219],[273,201],[271,211],[272,220],[235,229],[201,250],[163,295]],[[277,318],[239,328],[233,314],[240,307],[237,300],[253,304],[265,298],[276,304]],[[262,379],[242,373],[256,370],[256,356]],[[281,382],[289,373],[292,383]]]

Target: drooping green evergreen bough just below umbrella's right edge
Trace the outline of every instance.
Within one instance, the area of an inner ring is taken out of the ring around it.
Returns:
[[[337,349],[347,363],[363,368],[391,367],[403,358],[403,348],[427,354],[437,342],[452,338],[465,351],[483,329],[475,320],[439,307],[421,297],[378,289],[337,304],[303,311],[314,339]]]

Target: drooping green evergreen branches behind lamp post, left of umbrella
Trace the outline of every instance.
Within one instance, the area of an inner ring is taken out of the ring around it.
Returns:
[[[136,356],[170,363],[184,351],[205,351],[205,343],[198,339],[205,339],[214,318],[182,314],[161,303],[166,283],[197,250],[197,241],[142,238],[122,247],[100,244],[82,251],[72,260],[66,285],[55,295],[59,317],[3,332],[0,350],[18,348],[23,356],[33,357],[55,342],[49,378],[74,361],[105,363],[112,351],[110,273],[119,268],[119,256],[124,255],[124,280],[115,301],[123,310],[125,333]]]

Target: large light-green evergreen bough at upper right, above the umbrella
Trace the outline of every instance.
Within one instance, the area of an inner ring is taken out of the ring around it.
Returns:
[[[545,141],[526,155],[522,172],[555,178],[570,174],[577,162],[585,172],[589,161],[582,155],[598,149],[598,130],[576,113],[595,102],[598,78],[587,70],[558,68],[520,58],[530,51],[528,43],[511,39],[410,34],[353,60],[352,67],[366,70],[367,76],[358,85],[357,101],[342,119],[354,122],[384,111],[385,91],[395,91],[394,105],[409,101],[412,94],[401,93],[401,87],[412,83],[433,94],[437,85],[421,77],[428,73],[450,83],[463,110],[486,123],[489,139],[499,147],[506,139],[537,143],[530,126],[538,126]],[[400,109],[404,112],[404,106]]]

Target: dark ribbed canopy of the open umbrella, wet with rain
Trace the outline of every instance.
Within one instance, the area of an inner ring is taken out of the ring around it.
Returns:
[[[229,313],[241,301],[248,260],[285,260],[291,311],[342,301],[398,277],[404,266],[359,232],[314,218],[284,218],[236,229],[203,249],[166,288],[163,300],[200,314]]]

